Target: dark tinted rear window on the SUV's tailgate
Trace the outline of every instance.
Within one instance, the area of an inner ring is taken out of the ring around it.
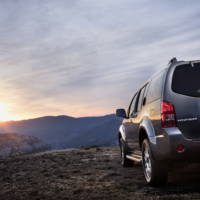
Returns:
[[[172,90],[179,94],[200,97],[200,63],[177,66],[172,78]]]

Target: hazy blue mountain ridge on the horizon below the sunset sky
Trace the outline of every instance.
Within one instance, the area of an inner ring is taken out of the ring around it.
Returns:
[[[121,121],[115,115],[74,118],[46,116],[22,121],[0,123],[0,133],[34,136],[52,149],[81,146],[111,146],[117,143]]]

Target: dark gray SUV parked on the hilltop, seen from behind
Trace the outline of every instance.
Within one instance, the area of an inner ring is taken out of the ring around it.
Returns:
[[[173,58],[134,94],[119,128],[121,163],[142,162],[147,183],[166,183],[168,166],[200,161],[200,61]]]

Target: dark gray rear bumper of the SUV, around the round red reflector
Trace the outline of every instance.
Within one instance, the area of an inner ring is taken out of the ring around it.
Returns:
[[[178,128],[163,129],[162,135],[156,137],[152,144],[155,159],[169,161],[200,161],[200,140],[190,140],[183,136]],[[177,145],[184,145],[183,152],[176,150]]]

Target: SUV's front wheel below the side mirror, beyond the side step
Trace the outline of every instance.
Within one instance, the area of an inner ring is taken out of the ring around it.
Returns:
[[[123,167],[132,167],[134,162],[126,158],[127,148],[122,138],[120,138],[119,140],[119,146],[120,146],[120,154],[121,154],[121,165]]]

